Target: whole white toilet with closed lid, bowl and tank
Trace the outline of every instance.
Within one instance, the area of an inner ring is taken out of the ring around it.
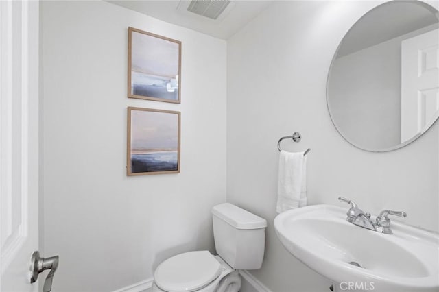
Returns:
[[[212,208],[217,256],[185,252],[163,261],[154,271],[152,292],[238,292],[239,269],[259,269],[265,251],[267,221],[233,204]]]

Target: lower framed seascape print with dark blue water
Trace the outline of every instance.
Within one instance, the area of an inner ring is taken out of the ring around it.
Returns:
[[[127,175],[180,172],[180,112],[128,107]]]

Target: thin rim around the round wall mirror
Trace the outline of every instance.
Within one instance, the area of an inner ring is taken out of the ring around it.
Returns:
[[[402,0],[403,1],[403,0]],[[431,12],[433,12],[436,15],[436,18],[439,21],[439,10],[437,10],[434,6],[430,5],[429,3],[426,3],[425,1],[422,0],[412,0],[413,2],[417,2],[420,5],[423,5],[427,10],[430,10]],[[426,132],[428,132],[431,127],[433,127],[433,125],[439,120],[439,116],[436,117],[436,119],[434,121],[430,121],[428,123],[428,127],[427,130],[425,130],[424,132],[420,132],[416,135],[414,135],[412,138],[410,138],[407,141],[404,141],[403,143],[399,143],[398,145],[395,145],[393,147],[388,147],[388,148],[383,148],[383,149],[366,149],[364,147],[360,147],[359,145],[357,145],[356,143],[353,143],[353,141],[350,141],[346,136],[344,136],[344,134],[342,134],[342,132],[340,132],[339,128],[337,127],[337,125],[335,124],[334,118],[331,114],[331,110],[329,109],[329,77],[331,76],[331,69],[333,66],[333,63],[337,57],[337,53],[340,50],[340,47],[342,46],[342,42],[343,40],[346,38],[346,36],[349,34],[349,32],[351,32],[351,30],[353,29],[354,25],[357,24],[364,16],[366,16],[366,14],[368,14],[370,11],[375,10],[379,7],[381,7],[381,5],[389,5],[392,2],[399,2],[398,0],[390,0],[384,3],[380,3],[379,5],[375,6],[374,8],[366,11],[363,15],[361,15],[361,17],[359,17],[359,19],[357,19],[357,21],[355,21],[355,23],[353,23],[353,25],[351,25],[351,27],[348,29],[348,31],[346,32],[346,34],[344,34],[342,40],[340,40],[340,43],[337,46],[337,49],[334,52],[333,58],[331,60],[331,64],[329,65],[329,70],[328,70],[328,75],[327,75],[327,82],[326,82],[326,101],[327,101],[327,109],[329,112],[329,117],[331,118],[331,122],[333,123],[335,130],[337,130],[337,132],[340,134],[340,136],[342,136],[344,138],[345,141],[347,141],[349,144],[353,145],[354,147],[361,149],[363,151],[368,151],[368,152],[388,152],[388,151],[394,151],[396,149],[400,149],[402,147],[405,147],[407,145],[409,145],[410,143],[416,141],[416,139],[418,139],[420,136],[423,136],[423,134],[425,134]]]

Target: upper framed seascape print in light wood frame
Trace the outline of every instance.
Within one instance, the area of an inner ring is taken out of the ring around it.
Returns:
[[[128,97],[180,104],[181,42],[128,27]]]

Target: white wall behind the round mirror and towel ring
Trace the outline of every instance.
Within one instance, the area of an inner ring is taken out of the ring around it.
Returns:
[[[263,267],[252,271],[275,292],[328,291],[329,282],[278,241],[276,173],[281,136],[308,154],[309,204],[405,210],[406,221],[439,230],[439,123],[396,151],[371,153],[344,141],[326,103],[329,65],[348,29],[373,1],[276,1],[228,41],[227,200],[268,220]],[[437,7],[436,7],[437,8]],[[396,220],[396,219],[395,219]]]

